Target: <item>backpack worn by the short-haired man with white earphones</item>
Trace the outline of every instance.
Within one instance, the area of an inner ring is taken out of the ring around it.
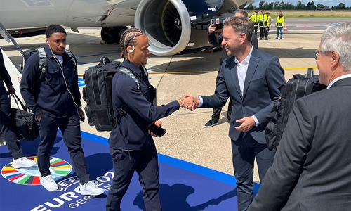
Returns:
[[[38,82],[41,81],[45,77],[45,73],[47,71],[46,66],[48,65],[48,58],[46,57],[45,53],[45,48],[44,47],[39,47],[38,49],[28,49],[23,53],[23,65],[27,62],[28,58],[32,56],[35,52],[38,51],[38,56],[39,56],[39,72],[41,72],[40,77],[38,79]],[[76,58],[74,58],[73,53],[67,49],[65,49],[65,52],[68,54],[69,58],[72,60],[72,64],[74,67],[74,70],[77,68],[77,61]],[[46,79],[46,82],[50,85],[50,82],[48,82],[48,79]]]

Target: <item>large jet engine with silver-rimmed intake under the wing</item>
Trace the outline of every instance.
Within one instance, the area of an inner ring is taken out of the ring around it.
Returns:
[[[210,46],[208,25],[215,18],[232,15],[247,0],[142,0],[135,11],[135,27],[149,39],[149,50],[157,56],[171,56],[185,49]],[[241,4],[243,3],[243,4]]]

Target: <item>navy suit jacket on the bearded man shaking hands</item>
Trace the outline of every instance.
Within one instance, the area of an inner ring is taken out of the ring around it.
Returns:
[[[223,61],[221,70],[215,94],[201,96],[202,108],[223,107],[227,98],[231,97],[230,138],[237,141],[241,134],[234,128],[241,124],[236,123],[236,120],[255,115],[260,124],[248,133],[258,143],[265,143],[264,130],[270,120],[270,110],[279,98],[278,87],[285,84],[284,70],[277,56],[253,48],[244,82],[244,94],[240,91],[237,63],[233,56]]]

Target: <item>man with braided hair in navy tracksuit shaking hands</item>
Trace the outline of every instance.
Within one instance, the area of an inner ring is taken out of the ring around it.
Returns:
[[[121,200],[126,193],[133,173],[139,174],[143,188],[143,199],[147,211],[160,211],[159,166],[157,151],[148,126],[162,117],[171,115],[180,107],[193,103],[192,98],[180,98],[166,105],[154,106],[154,89],[147,79],[143,65],[147,63],[150,51],[147,37],[136,28],[129,28],[121,34],[121,55],[124,67],[138,79],[140,88],[129,75],[117,72],[112,80],[112,103],[114,113],[127,106],[125,115],[117,115],[118,124],[112,129],[109,138],[113,161],[114,177],[107,195],[106,210],[119,211]]]

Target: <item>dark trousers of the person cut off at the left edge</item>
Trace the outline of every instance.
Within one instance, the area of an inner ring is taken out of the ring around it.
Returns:
[[[11,104],[8,98],[8,92],[3,84],[0,84],[0,130],[4,136],[8,151],[10,151],[12,158],[22,158],[22,151],[20,148],[20,141],[18,141],[15,132],[15,125],[11,120]]]

